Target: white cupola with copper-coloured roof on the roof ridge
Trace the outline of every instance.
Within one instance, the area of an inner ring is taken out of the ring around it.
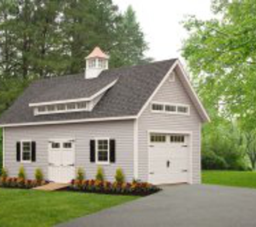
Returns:
[[[86,58],[85,79],[98,77],[102,70],[108,69],[109,56],[95,47]]]

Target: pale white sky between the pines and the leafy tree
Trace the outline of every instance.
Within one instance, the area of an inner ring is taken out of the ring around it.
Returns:
[[[121,11],[132,5],[149,44],[146,55],[155,60],[179,58],[182,40],[188,37],[181,22],[186,15],[212,16],[211,0],[113,0]]]

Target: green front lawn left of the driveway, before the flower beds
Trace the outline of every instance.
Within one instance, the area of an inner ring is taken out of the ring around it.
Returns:
[[[137,197],[0,188],[0,226],[53,226],[135,198]]]

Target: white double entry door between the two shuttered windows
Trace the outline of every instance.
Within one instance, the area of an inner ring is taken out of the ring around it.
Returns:
[[[68,183],[75,178],[74,140],[49,141],[49,180]]]

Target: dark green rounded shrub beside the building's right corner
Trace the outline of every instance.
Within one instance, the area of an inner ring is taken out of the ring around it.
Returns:
[[[202,155],[203,169],[227,169],[228,165],[223,157],[218,156],[213,151],[205,152]]]

